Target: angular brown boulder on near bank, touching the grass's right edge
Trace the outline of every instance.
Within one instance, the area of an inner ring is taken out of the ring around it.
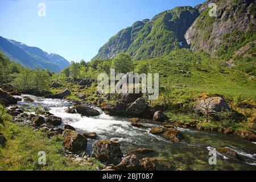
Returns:
[[[87,139],[77,131],[64,130],[62,136],[64,138],[65,147],[69,151],[76,152],[86,149]]]

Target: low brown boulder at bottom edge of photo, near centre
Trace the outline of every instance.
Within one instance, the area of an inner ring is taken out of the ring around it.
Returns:
[[[113,168],[117,171],[138,171],[142,169],[139,159],[134,154],[125,156],[122,161]]]

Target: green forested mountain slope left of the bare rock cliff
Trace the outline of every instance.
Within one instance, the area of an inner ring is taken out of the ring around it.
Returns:
[[[113,36],[93,59],[113,58],[119,52],[127,52],[137,60],[168,55],[175,48],[187,47],[184,34],[197,16],[197,9],[185,6],[135,22]]]

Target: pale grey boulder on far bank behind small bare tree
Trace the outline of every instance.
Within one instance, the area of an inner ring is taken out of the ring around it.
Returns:
[[[201,100],[196,106],[196,112],[206,115],[209,113],[220,112],[222,110],[231,110],[229,105],[222,97],[209,97]]]

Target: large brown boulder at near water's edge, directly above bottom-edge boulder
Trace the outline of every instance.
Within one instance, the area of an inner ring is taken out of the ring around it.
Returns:
[[[120,144],[110,140],[98,140],[92,144],[92,156],[101,162],[118,164],[123,156]]]

